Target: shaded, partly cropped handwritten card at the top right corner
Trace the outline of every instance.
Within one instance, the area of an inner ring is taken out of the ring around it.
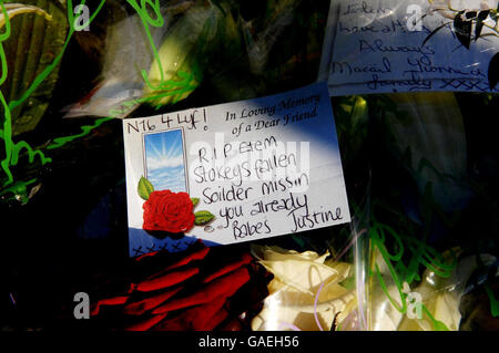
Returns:
[[[332,1],[319,80],[330,95],[498,92],[496,9],[496,0]]]

